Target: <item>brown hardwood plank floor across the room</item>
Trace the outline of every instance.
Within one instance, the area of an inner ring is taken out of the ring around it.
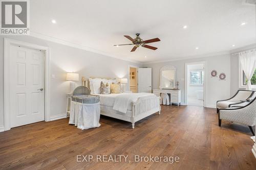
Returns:
[[[256,169],[246,126],[223,121],[215,109],[162,106],[161,115],[131,123],[101,116],[101,127],[79,130],[68,119],[0,133],[1,169]],[[77,155],[93,155],[77,162]],[[97,162],[129,155],[131,162]],[[134,155],[178,156],[179,162],[134,162]]]

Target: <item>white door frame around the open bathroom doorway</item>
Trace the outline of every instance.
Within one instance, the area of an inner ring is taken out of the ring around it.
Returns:
[[[204,106],[207,107],[207,62],[206,61],[198,61],[198,62],[189,62],[185,63],[185,105],[187,105],[187,65],[193,64],[203,64],[204,65]]]

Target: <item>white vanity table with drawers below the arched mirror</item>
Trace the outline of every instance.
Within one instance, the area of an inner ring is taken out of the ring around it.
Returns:
[[[154,89],[153,93],[160,96],[161,93],[170,94],[170,102],[177,104],[181,103],[181,90],[170,90],[170,89]]]

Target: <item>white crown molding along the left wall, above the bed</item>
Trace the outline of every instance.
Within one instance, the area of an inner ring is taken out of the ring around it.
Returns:
[[[109,54],[109,53],[106,53],[106,52],[103,52],[103,51],[100,51],[100,50],[96,50],[94,48],[90,48],[90,47],[87,47],[87,46],[84,46],[84,45],[76,44],[76,43],[73,43],[73,42],[70,42],[70,41],[66,41],[66,40],[63,40],[63,39],[47,36],[47,35],[32,32],[32,31],[30,31],[29,36],[39,38],[39,39],[43,39],[43,40],[47,40],[47,41],[51,41],[51,42],[55,42],[55,43],[62,44],[62,45],[67,45],[67,46],[79,48],[81,50],[86,50],[86,51],[101,54],[101,55],[104,55],[104,56],[113,57],[113,58],[116,58],[116,59],[119,59],[119,60],[124,60],[124,61],[129,61],[129,62],[133,62],[133,63],[137,63],[137,64],[142,64],[141,62],[138,62],[138,61],[135,61],[135,60],[117,57],[113,54]]]

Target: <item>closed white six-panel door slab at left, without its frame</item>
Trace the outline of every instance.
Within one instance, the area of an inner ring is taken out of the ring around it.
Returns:
[[[10,46],[11,128],[45,120],[44,53]]]

